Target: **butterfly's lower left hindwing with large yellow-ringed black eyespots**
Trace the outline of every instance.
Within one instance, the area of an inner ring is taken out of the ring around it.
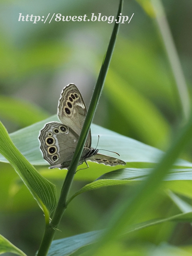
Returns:
[[[57,122],[47,123],[39,136],[44,159],[53,165],[53,168],[68,167],[78,139],[79,136],[68,126]]]

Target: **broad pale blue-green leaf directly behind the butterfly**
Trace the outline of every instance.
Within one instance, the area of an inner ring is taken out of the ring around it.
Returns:
[[[59,122],[59,119],[54,115],[44,121],[32,124],[10,134],[15,146],[33,165],[48,165],[40,152],[38,136],[44,124],[51,121]],[[96,147],[98,135],[100,135],[99,148],[118,152],[120,158],[125,162],[157,163],[159,158],[164,154],[163,151],[157,148],[112,132],[96,124],[92,124],[91,131],[92,147]],[[105,151],[102,152],[102,150],[100,150],[100,152],[106,154]],[[113,156],[116,157],[115,154],[113,154]],[[7,162],[3,156],[0,156],[0,161]],[[185,160],[178,160],[176,164],[192,167],[192,164]],[[98,164],[95,164],[95,166],[98,166]]]

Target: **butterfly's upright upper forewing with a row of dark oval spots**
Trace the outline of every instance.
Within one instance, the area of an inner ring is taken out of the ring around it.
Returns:
[[[68,84],[61,92],[58,106],[58,116],[63,124],[67,124],[76,134],[80,135],[87,109],[79,89],[75,84]],[[85,147],[91,147],[91,130]]]

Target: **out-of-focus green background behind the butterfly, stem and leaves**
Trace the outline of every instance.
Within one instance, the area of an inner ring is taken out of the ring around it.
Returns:
[[[163,4],[191,95],[192,3],[168,0]],[[102,21],[18,22],[19,13],[110,16],[116,15],[117,7],[115,0],[1,1],[0,119],[8,132],[55,114],[60,93],[69,83],[77,85],[88,107],[113,28],[113,23]],[[181,120],[175,81],[155,20],[138,2],[124,0],[123,15],[131,17],[132,13],[131,22],[120,26],[93,122],[166,150]],[[192,162],[191,153],[189,146],[182,158]],[[59,191],[63,181],[51,181]],[[75,181],[72,191],[87,182]],[[94,230],[122,188],[102,188],[78,196],[65,212],[59,227],[62,232],[55,238]],[[44,231],[43,212],[9,164],[0,163],[0,195],[0,234],[28,256],[34,255]],[[140,221],[173,213],[178,213],[177,207],[160,193],[156,205]],[[165,223],[134,233],[131,242],[126,244],[132,248],[130,255],[142,255],[140,248],[161,242],[186,246],[192,243],[192,227]]]

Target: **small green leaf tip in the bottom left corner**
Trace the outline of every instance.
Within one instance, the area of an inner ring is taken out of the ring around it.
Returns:
[[[7,240],[4,236],[0,235],[0,254],[5,252],[12,252],[20,256],[27,256],[19,248],[9,242],[9,240]]]

